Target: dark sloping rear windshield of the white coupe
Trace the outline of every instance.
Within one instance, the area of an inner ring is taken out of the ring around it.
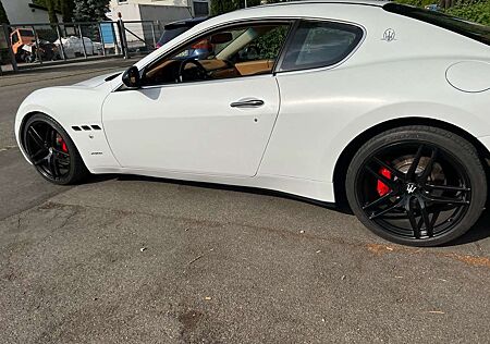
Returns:
[[[490,46],[490,26],[471,23],[436,11],[428,11],[397,3],[387,3],[383,9],[388,12],[409,16],[418,21],[443,27]]]

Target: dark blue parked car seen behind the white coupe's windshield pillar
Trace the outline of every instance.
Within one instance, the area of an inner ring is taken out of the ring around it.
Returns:
[[[186,30],[193,28],[197,24],[203,23],[208,17],[195,17],[185,21],[173,22],[167,24],[163,29],[163,34],[157,42],[157,48],[161,48],[164,44],[171,41],[173,38],[182,35]],[[212,45],[207,40],[196,42],[187,51],[183,52],[181,58],[203,57],[206,58],[212,53]]]

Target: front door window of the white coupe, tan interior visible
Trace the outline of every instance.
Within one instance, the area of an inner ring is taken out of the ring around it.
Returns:
[[[270,74],[290,26],[256,23],[206,34],[146,67],[143,85]]]

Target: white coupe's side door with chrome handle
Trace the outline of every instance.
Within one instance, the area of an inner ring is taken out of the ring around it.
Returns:
[[[231,36],[226,33],[225,37]],[[232,44],[223,48],[218,41],[213,49],[222,52],[228,47],[232,53]],[[203,54],[199,62],[216,69],[210,72],[212,77],[172,81],[175,70],[193,71],[193,61],[198,58],[186,60],[186,51],[188,47],[183,47],[172,58],[148,67],[144,87],[123,87],[107,98],[102,120],[115,158],[130,169],[254,176],[279,112],[272,67],[269,73],[243,75],[230,66],[234,62],[209,59],[217,53],[212,51]],[[226,58],[235,56],[237,52]]]

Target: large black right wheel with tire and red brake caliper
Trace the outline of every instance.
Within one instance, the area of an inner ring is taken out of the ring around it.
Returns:
[[[438,246],[479,219],[487,175],[466,139],[413,125],[364,144],[348,167],[345,189],[353,212],[377,235],[403,245]]]

